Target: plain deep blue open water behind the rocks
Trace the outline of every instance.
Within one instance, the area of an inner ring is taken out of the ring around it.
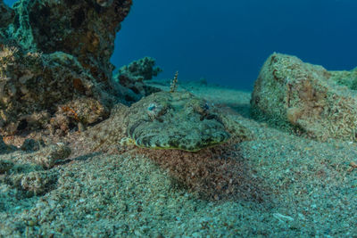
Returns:
[[[5,0],[7,4],[14,1]],[[133,0],[112,63],[152,56],[159,78],[206,78],[251,90],[270,53],[328,70],[357,62],[355,0]]]

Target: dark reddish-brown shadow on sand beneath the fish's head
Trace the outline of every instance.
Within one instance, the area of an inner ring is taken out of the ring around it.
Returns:
[[[237,144],[221,144],[199,152],[135,149],[145,154],[175,180],[206,201],[245,200],[266,203],[271,200],[268,185],[255,176],[240,155]]]

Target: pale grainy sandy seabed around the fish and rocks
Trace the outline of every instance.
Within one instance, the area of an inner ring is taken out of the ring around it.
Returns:
[[[268,188],[264,200],[199,199],[154,160],[129,152],[93,152],[55,166],[46,171],[57,177],[52,188],[29,195],[9,181],[37,168],[26,163],[29,154],[12,152],[0,155],[21,163],[0,175],[0,236],[357,237],[356,143],[318,142],[256,121],[249,92],[195,83],[179,89],[229,108],[253,132],[237,152]]]

